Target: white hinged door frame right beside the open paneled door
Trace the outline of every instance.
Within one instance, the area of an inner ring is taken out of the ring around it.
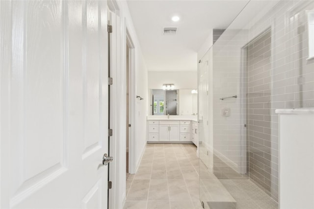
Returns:
[[[120,84],[120,70],[121,69],[121,48],[120,48],[120,36],[121,30],[121,18],[119,16],[120,7],[116,0],[107,1],[107,15],[108,25],[112,26],[112,33],[110,33],[110,54],[108,54],[108,60],[110,60],[110,77],[112,78],[113,84],[110,85],[110,129],[112,130],[112,136],[109,137],[109,147],[110,157],[113,157],[113,161],[109,163],[108,171],[108,181],[112,182],[111,189],[108,189],[108,209],[119,208],[122,204],[121,198],[121,178],[123,178],[123,173],[120,172],[120,160],[121,157],[120,147],[119,147],[119,138],[123,132],[119,130],[120,124],[120,107],[121,107],[121,98],[119,97],[123,90],[121,89]],[[117,95],[119,94],[119,95]],[[124,174],[125,175],[125,174]],[[120,194],[120,195],[119,195]]]

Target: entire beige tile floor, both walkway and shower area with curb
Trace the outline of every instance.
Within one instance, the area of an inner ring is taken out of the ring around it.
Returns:
[[[194,145],[147,144],[137,173],[128,176],[124,209],[202,209],[199,190],[205,209],[278,208],[252,181],[218,179],[199,165]]]

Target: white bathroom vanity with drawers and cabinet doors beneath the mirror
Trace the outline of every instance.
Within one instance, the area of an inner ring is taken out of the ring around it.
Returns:
[[[148,116],[148,143],[194,143],[197,146],[196,116]]]

